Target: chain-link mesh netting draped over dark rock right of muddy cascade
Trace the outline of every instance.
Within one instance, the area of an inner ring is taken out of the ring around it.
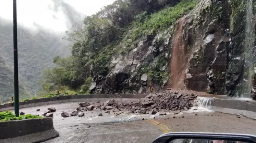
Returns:
[[[187,79],[187,87],[215,94],[249,97],[255,67],[254,1],[204,2],[199,4],[202,8],[195,14],[195,20],[199,20],[196,30],[200,36],[195,34],[193,41],[200,42],[200,38],[202,41],[196,45],[199,48],[194,48],[198,50],[196,54],[199,58],[195,64],[193,58],[196,54],[192,55],[188,64],[192,66],[189,68],[192,76],[196,77]]]

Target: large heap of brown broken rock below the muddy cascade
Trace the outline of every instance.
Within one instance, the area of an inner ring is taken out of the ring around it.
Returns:
[[[151,110],[153,114],[159,110],[181,111],[188,110],[194,104],[197,97],[194,93],[181,93],[178,91],[166,90],[162,93],[150,94],[134,102],[115,103],[118,109],[128,109],[132,112],[145,113]]]

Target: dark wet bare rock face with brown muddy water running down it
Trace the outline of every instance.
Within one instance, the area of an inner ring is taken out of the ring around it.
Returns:
[[[144,35],[131,41],[131,51],[116,53],[110,71],[94,76],[90,93],[150,93],[154,86],[154,92],[182,88],[239,97],[251,81],[245,17],[246,3],[200,0],[166,31]],[[256,57],[255,48],[252,53]]]

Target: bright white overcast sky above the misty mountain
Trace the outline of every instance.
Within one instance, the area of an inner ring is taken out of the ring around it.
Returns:
[[[92,15],[100,8],[111,4],[114,0],[64,0],[77,11]],[[0,18],[12,22],[12,0],[0,0]],[[66,31],[66,20],[62,11],[53,12],[49,7],[53,6],[52,0],[17,0],[17,22],[29,29],[36,29],[36,25],[54,30]],[[54,15],[54,16],[53,16]],[[81,19],[82,20],[82,19]]]

